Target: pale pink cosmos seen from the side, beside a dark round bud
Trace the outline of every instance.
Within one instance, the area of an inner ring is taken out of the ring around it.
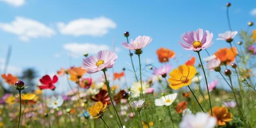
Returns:
[[[146,47],[150,42],[149,36],[138,36],[134,41],[131,39],[130,43],[123,42],[122,46],[129,50],[137,50]]]

